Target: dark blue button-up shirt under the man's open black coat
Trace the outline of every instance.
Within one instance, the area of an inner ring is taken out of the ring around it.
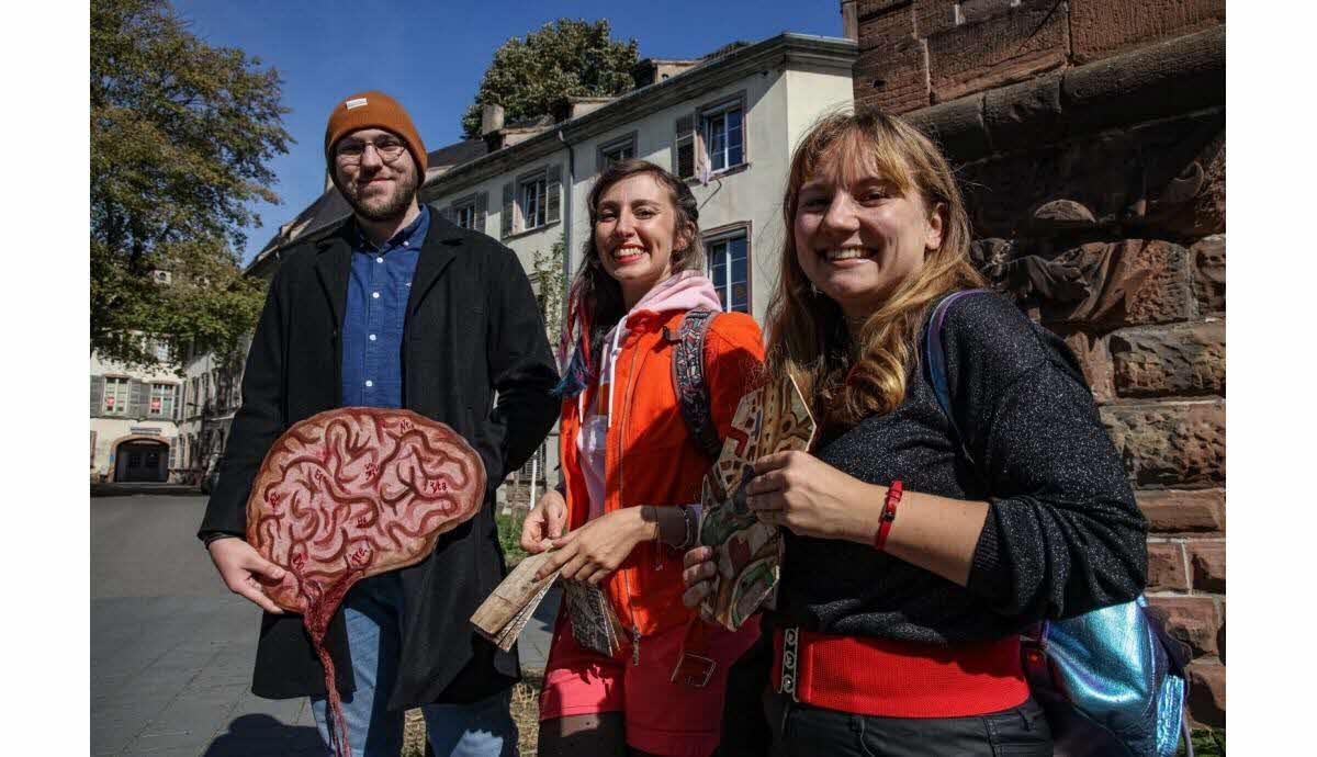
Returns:
[[[403,321],[429,208],[381,246],[357,233],[342,317],[342,404],[403,407]]]

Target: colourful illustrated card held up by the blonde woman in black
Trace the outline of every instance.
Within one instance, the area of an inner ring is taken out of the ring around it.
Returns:
[[[782,562],[777,527],[760,523],[745,504],[745,486],[755,461],[766,454],[807,450],[814,419],[799,387],[788,378],[745,395],[732,419],[723,452],[705,477],[699,542],[714,548],[714,591],[703,610],[728,629],[736,629],[772,602]]]

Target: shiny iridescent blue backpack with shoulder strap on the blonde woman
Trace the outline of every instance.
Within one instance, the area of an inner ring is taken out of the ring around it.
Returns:
[[[973,458],[951,412],[942,321],[951,303],[981,291],[943,298],[928,317],[923,345],[938,404],[969,462]],[[1184,718],[1188,649],[1167,633],[1164,616],[1142,595],[1079,617],[1040,623],[1022,641],[1025,675],[1047,712],[1054,754],[1171,757],[1183,733],[1193,757]]]

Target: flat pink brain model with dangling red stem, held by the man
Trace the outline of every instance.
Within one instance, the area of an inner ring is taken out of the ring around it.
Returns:
[[[411,411],[340,408],[298,423],[270,448],[248,499],[246,538],[284,569],[263,591],[302,613],[342,725],[329,619],[362,578],[420,562],[485,496],[485,465],[453,429]]]

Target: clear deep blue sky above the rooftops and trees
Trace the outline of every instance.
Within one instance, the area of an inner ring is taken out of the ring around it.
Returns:
[[[329,109],[344,95],[394,95],[433,150],[461,137],[462,112],[494,50],[560,17],[607,18],[615,38],[639,42],[641,58],[698,58],[734,39],[781,32],[842,36],[838,0],[174,0],[174,7],[198,37],[241,47],[283,78],[283,103],[291,109],[284,128],[298,142],[271,162],[283,204],[254,205],[263,226],[248,229],[244,261],[324,190],[320,140]]]

